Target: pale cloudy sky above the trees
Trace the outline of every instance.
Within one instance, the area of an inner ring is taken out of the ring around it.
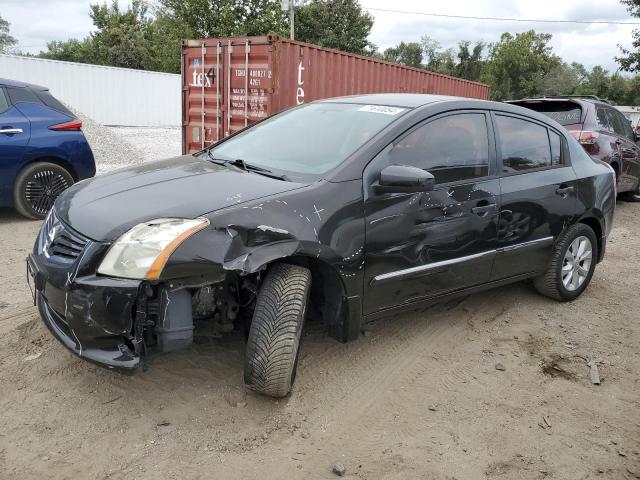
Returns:
[[[11,23],[11,34],[18,48],[37,53],[51,40],[82,38],[93,28],[89,4],[104,0],[0,0],[0,16]],[[126,6],[127,0],[120,0]],[[426,12],[445,15],[482,17],[640,22],[632,18],[618,0],[360,0],[363,7],[414,12],[390,13],[369,10],[375,17],[370,41],[381,50],[401,41],[418,41],[428,35],[444,48],[455,47],[460,40],[497,41],[502,32],[534,29],[553,34],[554,52],[568,62],[587,67],[602,65],[609,71],[618,68],[614,57],[618,44],[630,46],[631,31],[640,25],[586,25],[571,23],[531,23],[497,20],[437,18],[419,15]]]

